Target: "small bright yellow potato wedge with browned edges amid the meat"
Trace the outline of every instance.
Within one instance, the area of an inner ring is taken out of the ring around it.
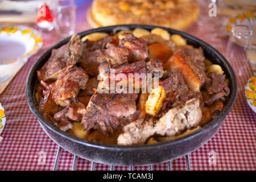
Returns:
[[[146,113],[152,116],[158,114],[165,99],[166,91],[162,86],[158,86],[158,88],[153,89],[145,103]]]

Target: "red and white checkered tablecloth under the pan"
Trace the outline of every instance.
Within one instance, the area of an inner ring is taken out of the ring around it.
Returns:
[[[92,27],[86,20],[89,5],[77,7],[76,32]],[[228,37],[223,25],[223,16],[208,16],[208,6],[201,9],[199,20],[186,32],[203,39],[230,61],[236,72],[238,96],[236,104],[230,111],[220,130],[204,146],[190,155],[192,170],[255,170],[256,169],[256,114],[246,104],[243,95],[247,80],[253,75],[246,56],[241,47],[235,47],[231,53],[226,52]],[[35,27],[34,24],[28,26]],[[11,81],[0,95],[0,102],[5,108],[7,123],[0,142],[0,170],[52,170],[58,145],[44,133],[36,117],[31,113],[25,95],[28,72],[44,51],[61,38],[55,31],[42,32],[43,47],[32,56],[26,65]],[[38,162],[40,151],[46,154],[46,163]],[[211,163],[211,151],[216,154],[216,163]],[[62,150],[58,170],[71,170],[73,155]],[[91,162],[78,158],[77,170],[89,170]],[[110,166],[96,164],[96,170],[109,170]],[[115,166],[115,170],[127,170],[129,167]],[[135,170],[147,170],[148,166],[135,167]],[[166,170],[167,163],[155,164],[154,170]],[[186,170],[185,157],[172,161],[172,169]]]

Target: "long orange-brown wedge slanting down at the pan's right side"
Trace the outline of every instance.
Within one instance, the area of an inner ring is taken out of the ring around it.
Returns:
[[[190,89],[197,92],[200,91],[202,82],[199,80],[199,78],[197,78],[192,69],[185,63],[185,60],[177,53],[174,53],[174,55],[168,59],[166,64],[164,64],[164,69],[167,71],[173,71],[174,69],[177,69],[183,76],[184,81]]]

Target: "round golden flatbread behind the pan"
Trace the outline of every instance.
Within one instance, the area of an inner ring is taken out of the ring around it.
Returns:
[[[184,30],[199,10],[196,0],[94,0],[90,15],[99,26],[153,24]]]

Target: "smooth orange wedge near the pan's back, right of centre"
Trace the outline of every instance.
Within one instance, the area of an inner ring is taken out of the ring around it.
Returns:
[[[166,63],[166,61],[171,57],[172,50],[166,44],[151,44],[147,47],[150,59],[159,59],[162,63]]]

